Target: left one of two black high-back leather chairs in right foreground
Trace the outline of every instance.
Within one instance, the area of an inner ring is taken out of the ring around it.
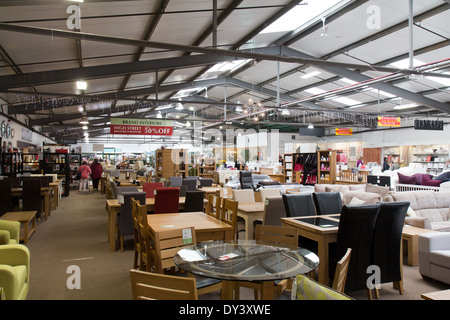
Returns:
[[[352,249],[345,292],[367,289],[367,268],[372,264],[373,235],[379,212],[379,204],[342,207],[336,252],[330,257],[329,270],[333,272],[337,261],[345,255],[348,248]],[[371,298],[371,292],[368,293]]]

